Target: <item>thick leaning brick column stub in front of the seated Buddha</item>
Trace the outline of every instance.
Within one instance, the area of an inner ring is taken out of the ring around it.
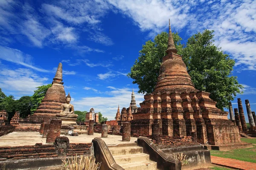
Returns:
[[[46,143],[53,143],[61,135],[61,119],[52,119],[47,134]]]

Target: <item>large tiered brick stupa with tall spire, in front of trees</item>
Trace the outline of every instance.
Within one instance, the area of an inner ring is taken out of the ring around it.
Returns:
[[[195,89],[177,54],[170,26],[166,54],[154,91],[144,96],[137,113],[133,113],[131,133],[151,135],[151,125],[158,123],[163,136],[190,136],[196,132],[201,144],[241,142],[235,122],[227,119],[228,113],[215,107],[208,92]]]

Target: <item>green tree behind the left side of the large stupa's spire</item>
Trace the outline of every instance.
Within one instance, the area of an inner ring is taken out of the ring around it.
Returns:
[[[172,33],[176,48],[181,51],[182,40],[178,33]],[[159,68],[163,61],[163,56],[166,55],[168,43],[168,33],[162,32],[154,38],[154,42],[148,40],[139,51],[139,58],[136,59],[131,67],[131,73],[128,77],[134,79],[132,83],[139,85],[139,93],[152,93],[157,83],[159,76]]]

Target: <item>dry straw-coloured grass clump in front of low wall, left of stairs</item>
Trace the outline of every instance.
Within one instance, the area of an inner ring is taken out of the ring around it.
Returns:
[[[72,156],[71,159],[62,159],[61,170],[99,170],[100,163],[95,164],[95,158],[88,156]]]

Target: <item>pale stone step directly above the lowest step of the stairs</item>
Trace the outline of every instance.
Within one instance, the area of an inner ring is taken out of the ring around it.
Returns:
[[[150,160],[149,155],[145,153],[119,155],[119,156],[113,156],[113,158],[115,159],[116,164],[129,164],[129,163],[143,162],[143,161]]]

